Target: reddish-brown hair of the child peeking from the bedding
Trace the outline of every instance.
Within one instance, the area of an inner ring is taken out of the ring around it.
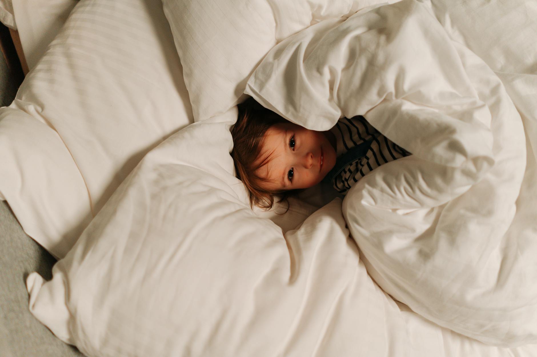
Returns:
[[[274,196],[279,195],[279,202],[287,202],[287,209],[289,209],[287,199],[296,192],[296,190],[267,190],[261,185],[267,182],[267,178],[255,173],[270,160],[270,155],[267,155],[261,162],[256,163],[261,154],[266,131],[272,125],[285,122],[285,118],[264,108],[253,98],[238,105],[237,122],[231,129],[231,136],[233,136],[231,157],[235,162],[238,178],[250,192],[251,207],[255,204],[265,210],[270,210],[274,205]]]

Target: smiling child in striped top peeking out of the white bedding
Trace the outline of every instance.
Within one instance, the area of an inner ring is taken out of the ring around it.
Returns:
[[[291,123],[249,99],[238,106],[233,129],[238,177],[250,204],[270,209],[321,181],[345,194],[354,182],[383,163],[410,155],[374,129],[362,116],[342,118],[329,131]]]

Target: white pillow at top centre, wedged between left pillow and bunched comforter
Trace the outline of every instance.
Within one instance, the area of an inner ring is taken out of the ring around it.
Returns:
[[[277,42],[381,0],[163,0],[195,120],[236,105],[246,80]]]

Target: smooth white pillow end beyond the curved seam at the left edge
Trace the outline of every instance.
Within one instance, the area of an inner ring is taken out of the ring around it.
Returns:
[[[56,131],[23,110],[0,109],[0,195],[25,232],[63,257],[91,219],[82,175]]]

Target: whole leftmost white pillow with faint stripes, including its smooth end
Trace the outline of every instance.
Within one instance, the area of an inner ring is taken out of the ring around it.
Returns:
[[[11,108],[0,109],[12,121],[0,135],[13,138],[2,142],[10,164],[0,165],[0,191],[26,232],[57,257],[143,155],[192,122],[160,5],[79,2]],[[24,133],[23,125],[34,129]],[[34,159],[14,156],[27,152]]]

